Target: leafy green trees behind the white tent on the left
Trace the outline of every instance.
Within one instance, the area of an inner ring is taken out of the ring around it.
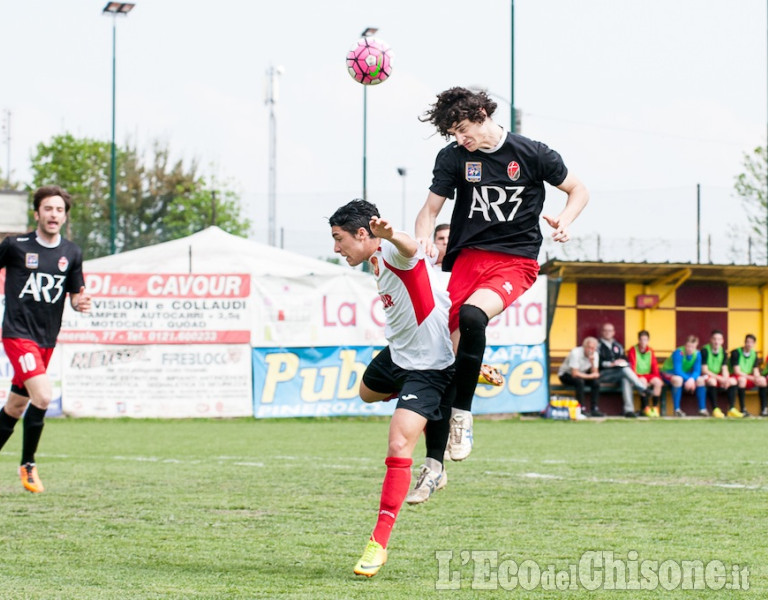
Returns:
[[[68,237],[83,249],[86,258],[110,252],[109,142],[54,136],[38,144],[32,159],[34,187],[55,183],[73,199]],[[235,235],[250,228],[241,216],[239,198],[228,187],[217,194],[197,173],[197,163],[187,167],[172,162],[167,144],[154,142],[148,160],[135,146],[117,148],[116,205],[118,251],[133,250],[189,235],[216,224]]]

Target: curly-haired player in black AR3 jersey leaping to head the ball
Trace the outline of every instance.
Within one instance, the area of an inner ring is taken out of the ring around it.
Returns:
[[[485,92],[454,87],[425,113],[437,131],[456,141],[437,155],[427,201],[416,217],[416,237],[429,252],[435,219],[446,198],[456,204],[443,270],[451,271],[449,327],[456,349],[455,390],[448,450],[463,460],[472,449],[472,397],[485,350],[485,327],[539,272],[544,182],[565,192],[565,207],[544,216],[552,239],[568,241],[568,227],[589,193],[560,155],[541,142],[506,131],[491,116]]]

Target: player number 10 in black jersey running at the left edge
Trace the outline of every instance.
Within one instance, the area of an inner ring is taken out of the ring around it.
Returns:
[[[24,414],[19,475],[24,487],[35,493],[44,490],[35,452],[53,393],[46,369],[61,329],[67,293],[72,308],[91,309],[82,252],[61,237],[70,205],[69,194],[60,187],[38,189],[34,195],[37,229],[7,237],[0,244],[0,268],[6,268],[3,347],[14,371],[11,393],[0,409],[0,448]]]

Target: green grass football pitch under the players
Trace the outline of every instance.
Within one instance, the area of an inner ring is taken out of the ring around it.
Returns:
[[[0,598],[768,597],[768,420],[478,420],[472,456],[403,507],[365,579],[387,427],[52,419],[40,495],[16,476],[19,427],[0,453]],[[589,551],[719,560],[749,590],[504,589],[510,561],[567,571]]]

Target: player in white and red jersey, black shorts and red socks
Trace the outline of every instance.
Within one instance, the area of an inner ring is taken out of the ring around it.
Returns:
[[[372,577],[387,560],[392,527],[411,484],[411,457],[419,435],[428,422],[442,417],[440,400],[453,376],[450,301],[437,284],[424,249],[407,234],[394,231],[375,205],[353,200],[328,221],[334,252],[353,267],[370,263],[386,315],[389,345],[366,368],[360,398],[380,402],[397,397],[379,516],[354,569]]]

